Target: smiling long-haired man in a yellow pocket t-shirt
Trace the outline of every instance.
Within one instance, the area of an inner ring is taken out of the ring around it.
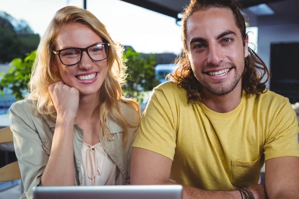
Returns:
[[[237,2],[192,0],[182,41],[172,81],[144,112],[131,183],[181,184],[184,199],[297,199],[296,113],[266,89],[269,72],[248,47]]]

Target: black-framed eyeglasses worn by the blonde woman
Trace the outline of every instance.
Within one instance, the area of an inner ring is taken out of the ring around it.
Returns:
[[[59,56],[61,63],[65,66],[78,64],[83,55],[83,51],[87,53],[91,60],[98,62],[107,59],[109,55],[110,43],[97,43],[86,48],[65,48],[53,53]]]

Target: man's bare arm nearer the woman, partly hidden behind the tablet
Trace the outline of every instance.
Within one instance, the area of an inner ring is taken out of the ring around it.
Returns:
[[[172,161],[155,152],[134,147],[131,161],[131,185],[173,185]],[[211,192],[183,186],[184,199],[241,199],[239,191]],[[256,198],[258,199],[258,198]]]

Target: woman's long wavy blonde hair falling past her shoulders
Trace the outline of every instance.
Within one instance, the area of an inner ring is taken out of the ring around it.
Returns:
[[[111,116],[123,127],[123,145],[126,144],[128,127],[137,127],[138,124],[129,124],[120,111],[119,102],[134,107],[140,114],[138,103],[122,96],[122,86],[125,84],[126,66],[121,60],[123,47],[114,42],[103,23],[90,11],[76,6],[66,6],[58,10],[46,29],[37,48],[31,79],[29,82],[30,94],[28,99],[33,100],[37,111],[43,115],[56,118],[56,110],[48,92],[49,85],[60,81],[61,77],[55,73],[52,50],[56,44],[57,35],[70,23],[79,22],[97,32],[103,42],[111,44],[107,58],[107,76],[100,89],[100,125],[103,127],[100,137],[109,134],[106,118]]]

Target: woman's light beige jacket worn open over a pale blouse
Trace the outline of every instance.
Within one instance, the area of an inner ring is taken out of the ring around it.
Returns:
[[[121,112],[130,124],[136,125],[140,114],[131,106],[121,103]],[[18,159],[25,193],[21,199],[32,199],[32,188],[39,186],[41,176],[49,160],[55,119],[39,114],[32,100],[20,100],[9,108],[10,129],[13,132],[13,143]],[[102,147],[118,167],[115,184],[130,184],[130,161],[132,144],[136,136],[136,128],[128,128],[128,141],[122,146],[123,129],[115,120],[106,120],[113,141],[101,140]],[[82,184],[81,149],[83,143],[83,129],[74,124],[74,168],[75,185]]]

